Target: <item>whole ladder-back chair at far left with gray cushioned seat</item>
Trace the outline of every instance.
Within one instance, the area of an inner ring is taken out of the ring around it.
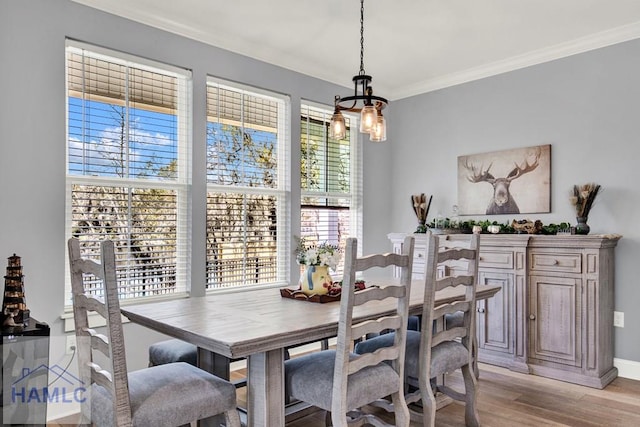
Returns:
[[[81,423],[182,426],[224,414],[227,426],[239,427],[236,391],[228,381],[184,362],[127,372],[114,244],[101,243],[100,263],[81,257],[78,239],[69,239],[68,249],[78,371],[87,389]],[[105,334],[89,327],[89,312],[105,319]]]

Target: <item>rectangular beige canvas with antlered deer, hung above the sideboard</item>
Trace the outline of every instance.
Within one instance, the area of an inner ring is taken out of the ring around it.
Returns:
[[[461,215],[551,212],[551,145],[458,157]]]

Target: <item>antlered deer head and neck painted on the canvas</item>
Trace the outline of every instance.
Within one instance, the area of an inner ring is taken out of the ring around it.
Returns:
[[[529,162],[529,158],[525,157],[521,164],[515,163],[515,167],[504,178],[495,178],[489,171],[493,163],[489,164],[486,169],[484,165],[477,166],[465,160],[463,166],[469,172],[467,180],[469,182],[488,182],[493,186],[493,197],[487,206],[487,215],[499,214],[519,214],[520,208],[511,196],[509,187],[511,183],[520,178],[522,175],[535,170],[540,160],[540,147],[537,147],[533,160]]]

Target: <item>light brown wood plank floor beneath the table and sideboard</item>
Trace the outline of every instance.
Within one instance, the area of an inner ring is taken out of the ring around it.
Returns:
[[[449,381],[459,382],[459,378],[453,376]],[[598,390],[484,364],[480,365],[479,381],[478,410],[485,427],[640,426],[640,381],[617,378]],[[243,390],[238,391],[241,402],[245,399]],[[463,406],[453,403],[438,411],[436,425],[464,426]],[[314,412],[287,427],[324,427],[324,413]]]

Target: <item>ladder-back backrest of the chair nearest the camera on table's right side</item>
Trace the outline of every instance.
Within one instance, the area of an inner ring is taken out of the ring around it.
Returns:
[[[390,361],[402,380],[404,378],[404,357],[409,317],[409,297],[411,290],[411,272],[413,266],[413,236],[404,240],[401,254],[375,254],[358,258],[358,242],[347,239],[345,249],[344,275],[342,280],[342,299],[340,301],[340,322],[336,343],[336,361],[333,377],[332,412],[346,414],[354,408],[347,408],[348,376],[359,370]],[[386,286],[368,287],[355,292],[356,273],[374,267],[401,270],[400,281],[390,281]],[[384,316],[354,322],[353,312],[358,306],[387,298],[394,300],[392,313]],[[373,353],[354,356],[351,353],[353,341],[367,334],[395,331],[393,346],[384,347]],[[381,396],[383,397],[383,396]]]

